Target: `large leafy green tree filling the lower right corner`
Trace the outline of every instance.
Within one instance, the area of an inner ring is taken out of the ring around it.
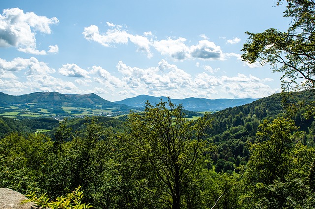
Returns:
[[[265,120],[259,126],[258,143],[250,146],[250,160],[243,177],[243,205],[275,209],[314,207],[310,201],[314,148],[302,145],[301,132],[296,130],[294,122],[285,118]]]

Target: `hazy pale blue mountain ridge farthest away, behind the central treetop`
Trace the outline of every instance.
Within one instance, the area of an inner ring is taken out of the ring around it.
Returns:
[[[139,95],[137,97],[128,98],[122,101],[116,101],[117,104],[125,104],[128,106],[143,108],[145,103],[149,101],[151,104],[158,104],[161,99],[167,101],[167,97],[153,97],[148,95]],[[257,99],[204,99],[204,98],[186,98],[186,99],[171,99],[174,104],[183,104],[184,109],[189,111],[219,111],[228,107],[240,106],[243,104],[252,103]]]

